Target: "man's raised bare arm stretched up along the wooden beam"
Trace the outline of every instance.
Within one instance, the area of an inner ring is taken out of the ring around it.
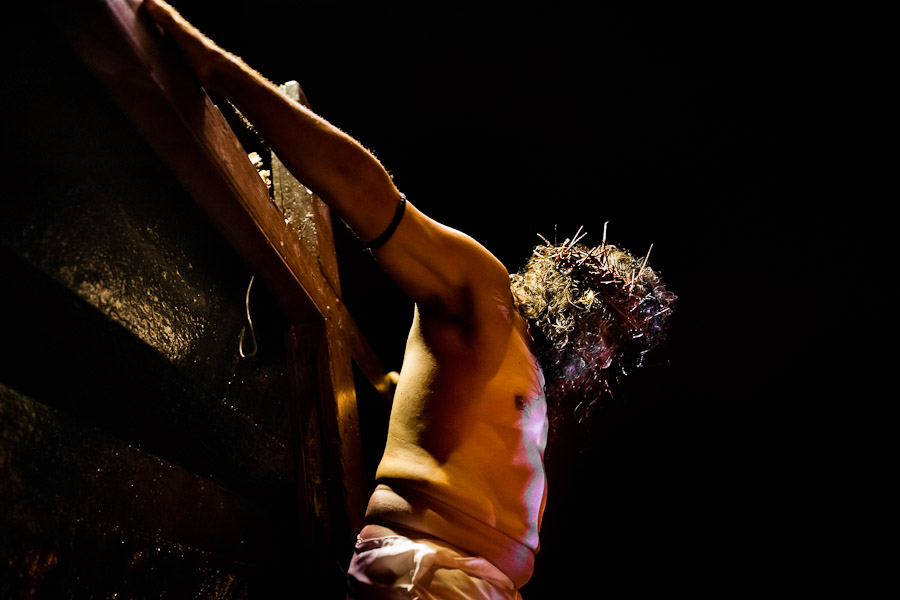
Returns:
[[[175,41],[183,58],[211,92],[233,102],[288,169],[369,242],[382,236],[398,214],[400,192],[372,153],[226,52],[160,0],[145,0],[154,21]],[[507,272],[468,236],[435,222],[407,203],[390,239],[374,251],[387,274],[423,312],[465,316],[471,284],[496,281]]]

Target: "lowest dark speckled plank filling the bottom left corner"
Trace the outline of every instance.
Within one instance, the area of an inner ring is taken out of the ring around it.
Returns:
[[[272,597],[302,558],[289,516],[2,385],[0,464],[4,597]]]

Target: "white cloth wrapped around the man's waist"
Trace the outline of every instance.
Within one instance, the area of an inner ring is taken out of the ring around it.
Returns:
[[[348,600],[521,600],[509,577],[480,556],[433,538],[357,539]]]

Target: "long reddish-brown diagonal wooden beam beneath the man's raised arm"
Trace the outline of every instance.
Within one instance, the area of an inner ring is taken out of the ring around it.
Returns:
[[[329,277],[285,224],[222,113],[139,6],[50,0],[48,15],[288,317],[331,323],[387,396],[385,371]]]

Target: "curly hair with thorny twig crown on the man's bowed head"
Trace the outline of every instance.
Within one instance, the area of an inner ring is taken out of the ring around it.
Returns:
[[[647,266],[649,251],[635,258],[607,244],[605,229],[594,248],[583,237],[544,239],[510,276],[544,369],[553,430],[572,416],[585,420],[620,375],[644,365],[665,338],[675,302]]]

